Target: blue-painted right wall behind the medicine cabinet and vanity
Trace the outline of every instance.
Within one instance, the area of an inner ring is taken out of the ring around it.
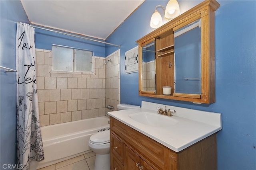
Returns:
[[[178,0],[181,12],[202,1]],[[124,53],[136,40],[150,33],[150,17],[157,5],[167,1],[146,0],[106,39],[120,44],[121,103],[141,101],[222,113],[218,132],[218,169],[256,169],[256,1],[218,1],[215,12],[216,102],[192,104],[138,96],[138,72],[125,74]],[[163,16],[162,9],[158,10]],[[106,46],[106,55],[116,47]]]

